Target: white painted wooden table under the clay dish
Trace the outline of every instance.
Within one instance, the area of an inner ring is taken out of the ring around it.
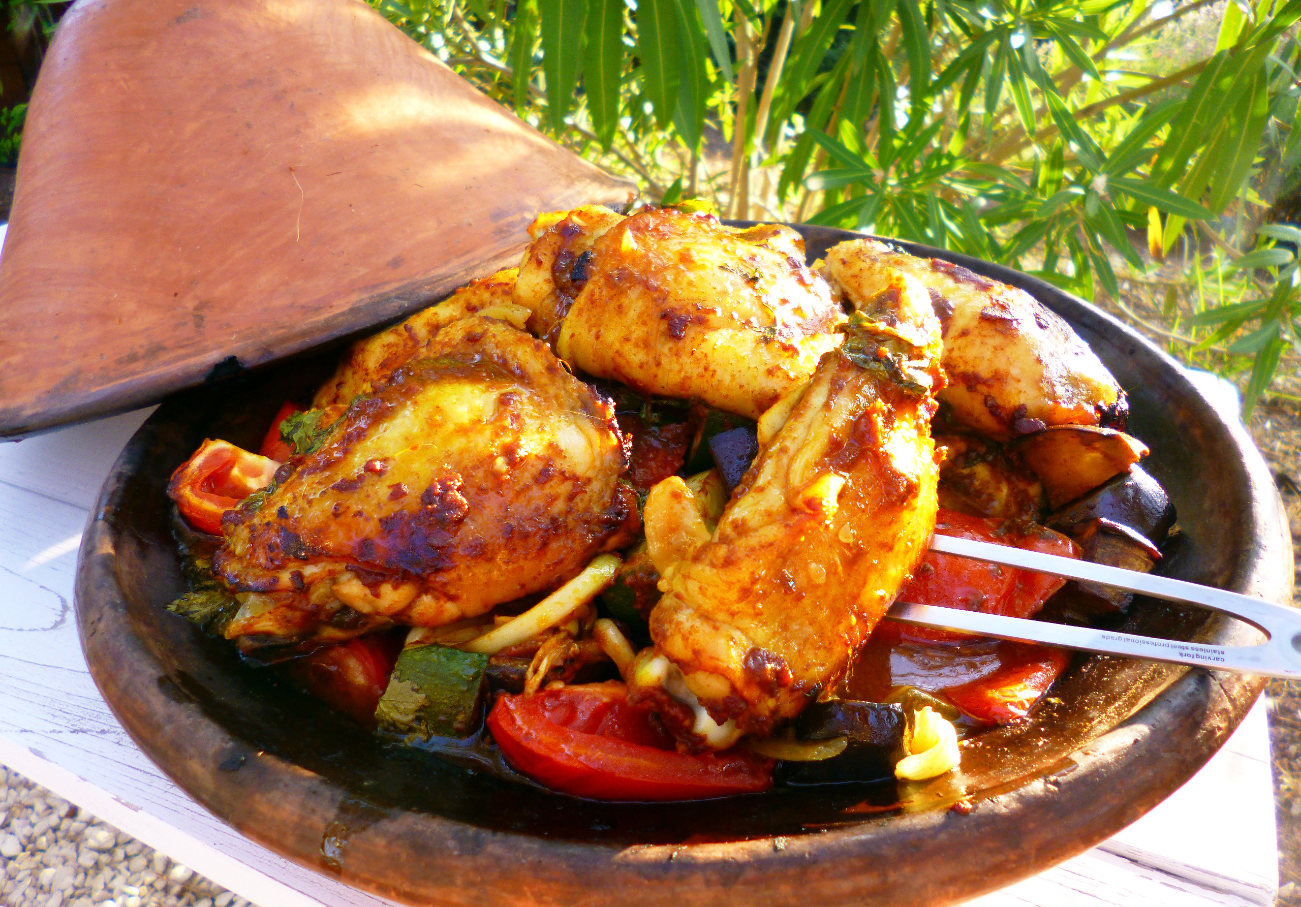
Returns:
[[[262,907],[386,902],[255,845],[131,743],[91,682],[73,575],[82,527],[147,410],[0,444],[0,764]],[[1115,838],[972,903],[1272,904],[1274,799],[1263,703],[1207,765]]]

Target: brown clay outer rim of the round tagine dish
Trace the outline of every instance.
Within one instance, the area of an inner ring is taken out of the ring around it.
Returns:
[[[861,236],[827,228],[800,229],[805,236],[820,232],[833,238]],[[1239,557],[1237,575],[1229,587],[1276,601],[1289,596],[1292,580],[1285,567],[1291,558],[1281,554],[1291,554],[1291,537],[1280,522],[1278,494],[1263,458],[1245,428],[1219,413],[1177,363],[1116,319],[1034,277],[917,243],[889,242],[1019,285],[1050,308],[1068,315],[1077,329],[1124,338],[1131,355],[1154,359],[1181,399],[1190,401],[1205,419],[1228,432],[1239,455],[1237,466],[1245,474],[1258,545]],[[320,871],[320,854],[289,843],[276,824],[284,816],[251,792],[273,782],[280,786],[276,791],[284,791],[280,799],[298,798],[302,821],[324,825],[338,807],[340,791],[321,776],[271,755],[259,759],[251,774],[241,772],[238,783],[228,783],[235,782],[235,774],[195,761],[199,755],[221,752],[239,740],[183,696],[168,695],[160,687],[167,671],[130,631],[125,593],[114,570],[120,530],[112,521],[131,476],[148,462],[155,440],[151,426],[157,420],[154,416],[142,427],[114,465],[81,549],[77,618],[91,673],[133,739],[182,789],[250,838]],[[1250,642],[1253,632],[1245,625],[1223,622],[1214,638],[1226,643]],[[124,664],[127,671],[121,670]],[[369,835],[375,841],[359,837],[356,858],[342,867],[342,877],[359,887],[411,902],[437,894],[454,902],[523,903],[548,895],[572,898],[583,891],[593,903],[630,899],[714,903],[743,893],[761,903],[777,903],[805,891],[808,897],[816,894],[820,900],[840,903],[861,900],[864,891],[874,891],[882,893],[883,903],[951,903],[1041,872],[1136,820],[1201,768],[1242,720],[1262,686],[1261,678],[1184,670],[1132,717],[1094,739],[1088,750],[1072,755],[1069,764],[1011,790],[986,791],[969,815],[933,809],[781,842],[761,835],[690,846],[624,847],[548,839],[407,812],[393,817],[384,834]],[[129,697],[139,699],[152,721],[142,720],[139,703]],[[1103,790],[1108,795],[1099,799]],[[1103,803],[1105,808],[1089,808],[1093,803]],[[424,835],[427,850],[422,856],[455,858],[446,867],[422,869],[429,874],[419,885],[401,868],[401,851],[380,847],[385,838],[397,842],[399,828],[410,822],[418,822]],[[898,867],[883,864],[876,851],[885,839],[895,850],[915,854],[915,860]],[[1033,851],[1025,852],[1024,845],[1016,845],[1019,841],[1033,842]],[[958,845],[963,852],[954,856]],[[385,852],[392,858],[389,865],[399,864],[397,871],[389,872],[376,863]],[[818,873],[816,867],[826,867],[829,860],[838,872]],[[917,877],[919,860],[928,867],[926,878]],[[973,869],[976,865],[978,872]],[[515,873],[520,867],[528,867],[527,895],[507,890],[511,881],[518,882]],[[477,882],[481,878],[506,887],[488,890]]]

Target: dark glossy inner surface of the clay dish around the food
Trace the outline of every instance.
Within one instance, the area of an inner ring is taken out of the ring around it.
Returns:
[[[809,239],[811,260],[844,236],[822,228],[800,229]],[[946,256],[990,276],[1016,277],[997,265]],[[1072,320],[1129,389],[1132,431],[1150,444],[1149,468],[1170,492],[1183,527],[1162,573],[1228,587],[1274,583],[1280,588],[1255,591],[1281,595],[1281,573],[1258,562],[1262,548],[1276,545],[1270,532],[1276,535],[1278,527],[1261,524],[1262,506],[1253,497],[1258,489],[1248,475],[1240,439],[1203,399],[1180,386],[1183,379],[1170,360],[1159,359],[1082,303],[1043,284],[1028,289],[1047,297],[1045,302]],[[170,537],[172,509],[163,493],[170,470],[203,437],[255,445],[281,401],[310,393],[332,366],[332,358],[327,354],[303,359],[165,403],[142,429],[134,454],[127,450],[124,472],[116,479],[121,484],[105,502],[112,508],[109,527],[116,544],[113,580],[131,632],[156,661],[150,683],[160,684],[174,701],[196,709],[238,742],[222,759],[258,751],[276,753],[347,791],[355,812],[349,822],[416,812],[496,830],[604,845],[799,835],[847,822],[889,824],[891,816],[945,805],[963,795],[1006,791],[1056,770],[1072,751],[1123,721],[1183,674],[1174,666],[1081,656],[1054,690],[1060,704],[1038,709],[1024,725],[981,735],[964,750],[956,777],[899,791],[892,785],[778,790],[716,803],[709,809],[579,802],[467,772],[418,750],[381,746],[325,705],[278,683],[269,671],[241,664],[228,644],[203,636],[164,610],[182,588]],[[1207,481],[1207,475],[1216,480]],[[100,604],[87,605],[83,597],[79,593],[78,606],[85,622]],[[1245,625],[1157,601],[1136,605],[1125,629],[1180,639],[1257,638]],[[1242,679],[1229,683],[1246,683],[1248,700],[1258,688]],[[131,712],[112,694],[109,701],[120,713]],[[137,733],[130,714],[124,721]],[[150,747],[148,739],[142,743]],[[173,756],[151,755],[164,766]],[[215,787],[226,781],[219,761],[209,769]],[[877,807],[898,798],[903,799],[902,808],[878,812]]]

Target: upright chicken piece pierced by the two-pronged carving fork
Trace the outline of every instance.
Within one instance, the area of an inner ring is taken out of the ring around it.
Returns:
[[[712,535],[675,500],[680,479],[647,500],[664,597],[631,697],[688,746],[768,734],[833,688],[926,549],[939,323],[905,275],[863,298],[863,311],[870,318],[855,316],[844,345],[822,357]],[[662,679],[661,656],[690,695]],[[734,722],[730,733],[703,733],[700,708],[714,725]]]

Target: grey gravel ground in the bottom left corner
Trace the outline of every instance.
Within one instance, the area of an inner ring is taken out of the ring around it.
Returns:
[[[0,903],[8,907],[250,907],[4,768],[0,856]]]

